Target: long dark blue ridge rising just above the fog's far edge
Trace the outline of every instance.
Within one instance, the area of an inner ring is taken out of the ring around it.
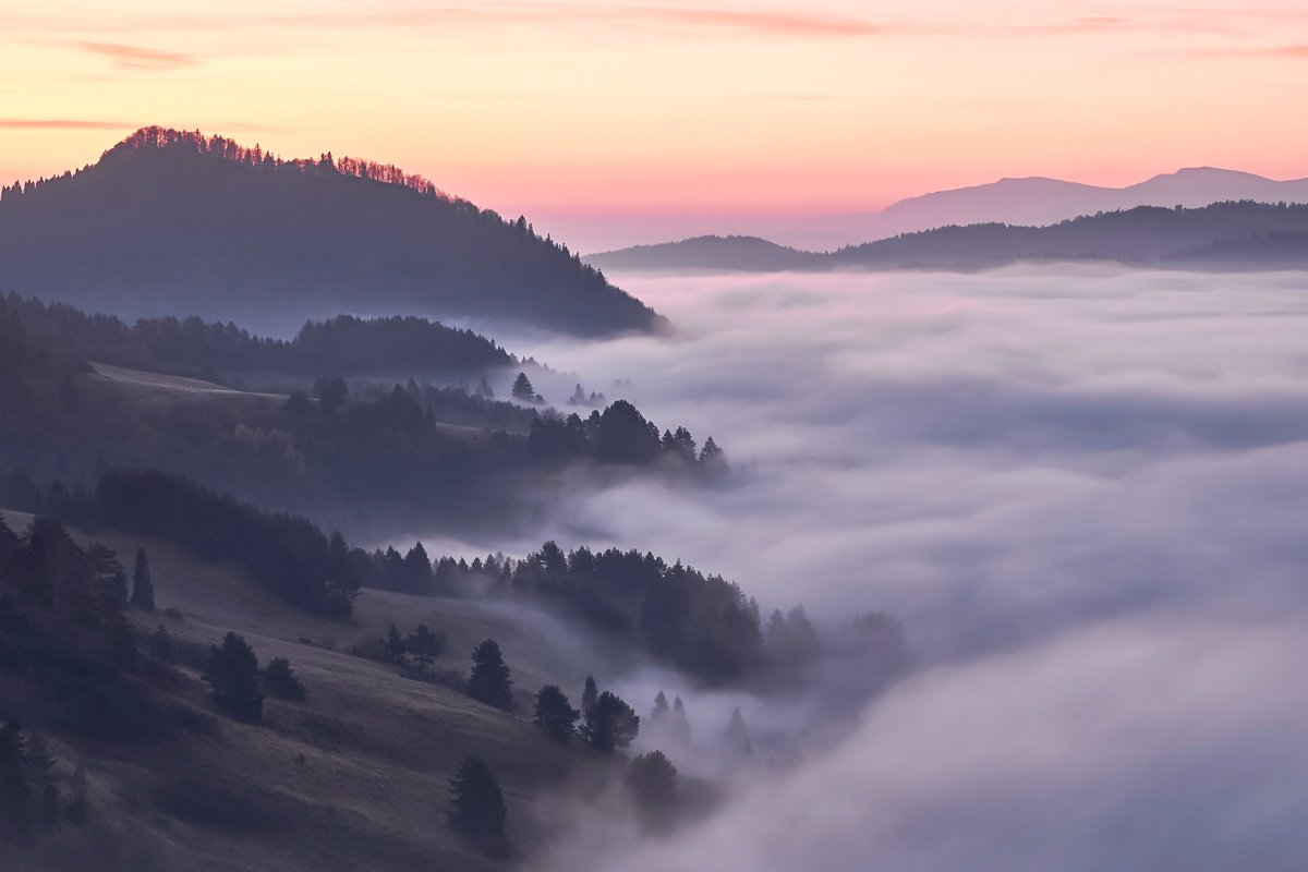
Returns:
[[[1023,260],[1096,260],[1135,267],[1284,269],[1308,267],[1308,205],[1215,203],[1199,209],[1139,207],[1042,227],[947,226],[829,254],[763,239],[701,237],[598,255],[606,269],[981,269]]]

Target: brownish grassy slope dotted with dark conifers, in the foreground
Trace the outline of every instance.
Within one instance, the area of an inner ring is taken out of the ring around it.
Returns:
[[[30,520],[4,514],[16,529]],[[239,570],[199,561],[169,543],[110,529],[78,539],[103,541],[128,562],[137,546],[146,549],[160,609],[184,617],[136,613],[140,628],[164,625],[179,641],[204,646],[237,630],[260,662],[290,659],[310,692],[305,703],[269,699],[262,726],[217,716],[208,735],[71,752],[86,762],[98,820],[131,834],[132,847],[106,868],[504,868],[511,862],[484,856],[445,821],[447,778],[471,753],[485,757],[500,777],[510,837],[530,867],[562,824],[551,820],[561,804],[538,800],[598,784],[617,762],[576,743],[547,741],[525,714],[498,713],[343,652],[381,635],[390,621],[405,629],[428,621],[450,637],[438,668],[466,669],[472,645],[494,635],[518,689],[559,680],[551,672],[555,639],[493,608],[364,591],[356,620],[339,624],[302,614]],[[298,643],[302,637],[315,645]],[[196,679],[183,696],[212,711],[198,673],[183,671]],[[192,805],[203,811],[188,813]],[[211,820],[198,822],[198,814]]]

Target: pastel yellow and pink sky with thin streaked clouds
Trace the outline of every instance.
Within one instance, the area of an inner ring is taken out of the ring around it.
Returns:
[[[0,178],[199,128],[396,163],[586,251],[1001,176],[1305,176],[1305,85],[1287,0],[0,0]]]

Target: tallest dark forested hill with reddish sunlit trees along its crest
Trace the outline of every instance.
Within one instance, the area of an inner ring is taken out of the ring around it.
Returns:
[[[663,323],[525,220],[394,166],[284,161],[161,128],[77,173],[5,188],[0,288],[222,320],[403,311],[577,335]]]

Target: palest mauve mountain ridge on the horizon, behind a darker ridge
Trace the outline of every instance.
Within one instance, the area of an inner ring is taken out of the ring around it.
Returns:
[[[1121,188],[1042,176],[1006,178],[908,197],[879,212],[827,216],[816,224],[823,235],[857,244],[948,225],[1042,226],[1144,205],[1199,208],[1228,200],[1308,203],[1308,179],[1278,182],[1209,166],[1155,175]]]

